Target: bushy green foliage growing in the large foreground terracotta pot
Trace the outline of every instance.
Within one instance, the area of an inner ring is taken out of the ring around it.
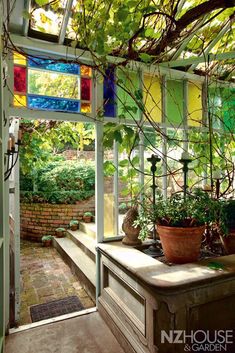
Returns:
[[[197,227],[201,225],[217,225],[223,233],[227,232],[226,215],[222,201],[212,199],[199,189],[188,194],[185,199],[182,193],[176,193],[164,200],[157,197],[153,208],[150,200],[140,205],[139,216],[134,226],[140,226],[140,238],[146,239],[152,224],[168,227]]]

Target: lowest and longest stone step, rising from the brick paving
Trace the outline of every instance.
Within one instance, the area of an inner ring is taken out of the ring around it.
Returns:
[[[54,238],[53,245],[60,253],[71,271],[77,275],[87,293],[95,300],[96,264],[69,237]]]

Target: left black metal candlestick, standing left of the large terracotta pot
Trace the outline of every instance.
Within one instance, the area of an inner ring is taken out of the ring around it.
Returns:
[[[156,181],[155,181],[155,173],[156,173],[156,164],[157,162],[160,162],[161,158],[159,158],[157,155],[152,154],[151,157],[147,158],[147,161],[151,163],[151,172],[152,172],[152,190],[153,190],[153,211],[155,210],[156,206]],[[144,252],[147,255],[150,255],[152,257],[157,257],[163,255],[163,252],[158,244],[157,241],[157,232],[156,232],[156,227],[155,227],[155,222],[153,223],[153,243],[149,246],[148,249],[146,249]]]

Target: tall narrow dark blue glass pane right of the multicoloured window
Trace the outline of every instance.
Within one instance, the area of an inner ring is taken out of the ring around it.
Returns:
[[[104,77],[104,116],[116,116],[116,85],[114,82],[114,70],[107,69]]]

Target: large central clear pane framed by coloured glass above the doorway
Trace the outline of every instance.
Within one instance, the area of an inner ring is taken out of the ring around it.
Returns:
[[[28,70],[28,92],[44,96],[80,99],[80,78],[49,71]]]

